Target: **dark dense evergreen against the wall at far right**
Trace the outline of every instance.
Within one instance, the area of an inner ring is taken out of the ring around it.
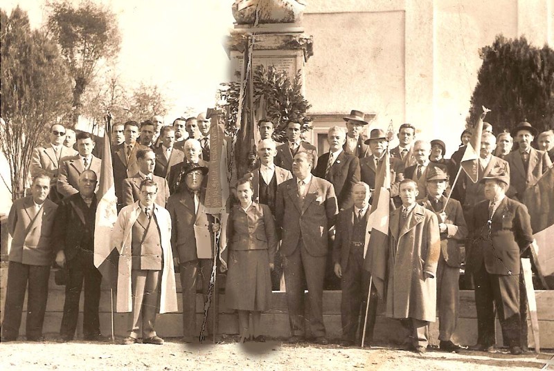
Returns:
[[[497,36],[491,46],[480,50],[483,65],[471,99],[472,126],[481,106],[492,109],[487,115],[494,131],[528,121],[539,131],[554,126],[554,50],[537,48],[525,37]]]

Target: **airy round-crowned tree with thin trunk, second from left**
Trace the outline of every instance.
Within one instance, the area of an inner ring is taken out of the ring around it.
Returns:
[[[48,30],[62,49],[62,56],[75,82],[73,124],[80,115],[81,97],[96,73],[100,59],[111,59],[119,52],[120,33],[116,16],[90,0],[77,8],[68,0],[49,4]]]

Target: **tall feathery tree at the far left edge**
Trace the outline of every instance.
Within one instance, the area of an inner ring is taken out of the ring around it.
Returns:
[[[0,23],[0,146],[18,198],[45,129],[71,111],[71,79],[56,44],[30,29],[26,12],[0,10]]]

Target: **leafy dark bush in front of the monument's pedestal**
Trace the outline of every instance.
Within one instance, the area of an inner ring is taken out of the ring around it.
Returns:
[[[274,140],[284,142],[285,125],[288,120],[301,122],[302,131],[312,129],[311,119],[307,111],[311,105],[302,94],[302,76],[298,71],[294,79],[290,79],[286,71],[276,70],[274,66],[265,69],[264,66],[257,66],[253,73],[254,101],[264,100],[265,112],[262,118],[274,122]],[[223,106],[229,113],[227,120],[227,131],[232,132],[237,121],[240,82],[222,84],[224,89],[220,96],[226,104]],[[259,116],[259,115],[258,115]]]

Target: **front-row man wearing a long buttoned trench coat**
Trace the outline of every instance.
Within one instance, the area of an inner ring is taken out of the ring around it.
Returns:
[[[386,316],[400,319],[411,333],[406,345],[421,354],[429,343],[426,327],[436,318],[440,232],[437,216],[416,204],[417,196],[413,180],[400,182],[402,207],[391,213],[388,227]]]

